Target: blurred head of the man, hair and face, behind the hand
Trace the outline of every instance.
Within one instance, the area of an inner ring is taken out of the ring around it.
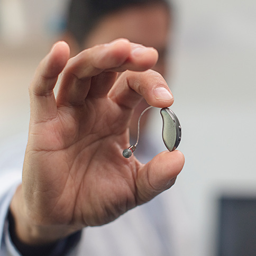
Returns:
[[[101,8],[98,8],[101,6]],[[71,56],[79,51],[118,38],[157,49],[159,57],[153,70],[166,75],[172,9],[168,0],[71,1],[67,31],[63,39],[71,48]],[[141,100],[131,120],[130,134],[136,137],[138,118],[149,105]],[[141,129],[149,112],[143,115]]]

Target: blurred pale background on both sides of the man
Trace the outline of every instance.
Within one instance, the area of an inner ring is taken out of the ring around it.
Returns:
[[[38,62],[61,35],[66,3],[0,1],[2,145],[28,130],[28,86]],[[256,2],[179,0],[174,4],[175,41],[168,80],[175,96],[172,109],[182,126],[179,150],[186,157],[174,189],[182,191],[197,226],[195,256],[212,256],[222,246],[225,198],[250,199],[255,204]],[[152,140],[162,143],[159,112],[149,129]],[[231,212],[237,207],[242,206],[231,205]],[[256,219],[255,209],[250,213]],[[255,235],[255,222],[251,228],[250,235]]]

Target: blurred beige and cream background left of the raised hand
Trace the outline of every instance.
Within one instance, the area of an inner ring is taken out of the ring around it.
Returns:
[[[66,3],[66,0],[0,1],[1,141],[28,130],[28,86],[39,61],[59,39]]]

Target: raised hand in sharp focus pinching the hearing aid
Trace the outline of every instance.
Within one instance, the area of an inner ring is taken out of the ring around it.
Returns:
[[[106,224],[174,184],[184,164],[179,151],[147,164],[122,156],[136,104],[143,97],[155,107],[173,102],[166,81],[148,70],[157,58],[153,48],[120,39],[71,59],[58,42],[41,61],[30,86],[22,186],[11,204],[23,242],[48,243]]]

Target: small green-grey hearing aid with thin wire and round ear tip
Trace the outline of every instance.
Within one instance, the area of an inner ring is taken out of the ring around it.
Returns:
[[[138,138],[134,145],[131,145],[129,148],[123,151],[123,156],[125,158],[129,158],[132,156],[132,153],[136,149],[136,145],[139,141],[140,134],[140,119],[141,116],[152,106],[146,108],[140,115],[138,121]],[[180,140],[181,140],[181,126],[178,120],[178,117],[169,109],[168,107],[164,107],[161,109],[160,114],[163,120],[163,129],[162,129],[162,139],[164,144],[166,145],[169,151],[176,150]]]

